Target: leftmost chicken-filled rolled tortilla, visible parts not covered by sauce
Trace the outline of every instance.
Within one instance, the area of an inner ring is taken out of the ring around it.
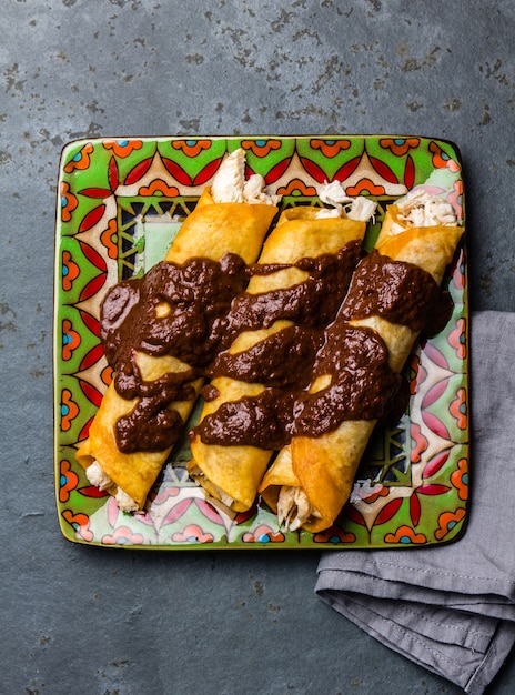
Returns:
[[[243,150],[234,151],[222,162],[211,188],[203,191],[195,209],[181,225],[165,261],[181,264],[200,256],[221,261],[232,253],[245,263],[255,262],[277,212],[279,198],[266,193],[262,177],[256,174],[245,181],[244,165]],[[159,310],[158,306],[156,312]],[[166,308],[162,311],[165,314]],[[148,382],[182,372],[188,376],[190,372],[189,364],[174,357],[173,352],[156,356],[139,351],[135,363],[141,377]],[[202,379],[186,381],[188,397],[169,403],[166,409],[176,412],[184,422],[202,383]],[[77,452],[77,461],[85,469],[90,482],[115,496],[123,511],[143,508],[173,446],[152,451],[145,445],[142,451],[130,453],[119,450],[115,425],[134,411],[139,401],[122,397],[111,384],[90,426],[88,440]]]

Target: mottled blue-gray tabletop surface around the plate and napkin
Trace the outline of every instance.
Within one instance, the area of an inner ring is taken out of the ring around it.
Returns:
[[[451,139],[467,184],[471,304],[514,310],[515,3],[3,0],[0,29],[0,693],[458,693],[324,606],[314,552],[62,538],[55,182],[61,147],[94,135]],[[514,661],[493,694],[514,692]]]

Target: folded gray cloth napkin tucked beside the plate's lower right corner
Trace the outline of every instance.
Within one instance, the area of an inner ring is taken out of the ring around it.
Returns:
[[[479,695],[515,642],[515,313],[471,315],[471,500],[463,537],[330,551],[316,592],[370,635]]]

